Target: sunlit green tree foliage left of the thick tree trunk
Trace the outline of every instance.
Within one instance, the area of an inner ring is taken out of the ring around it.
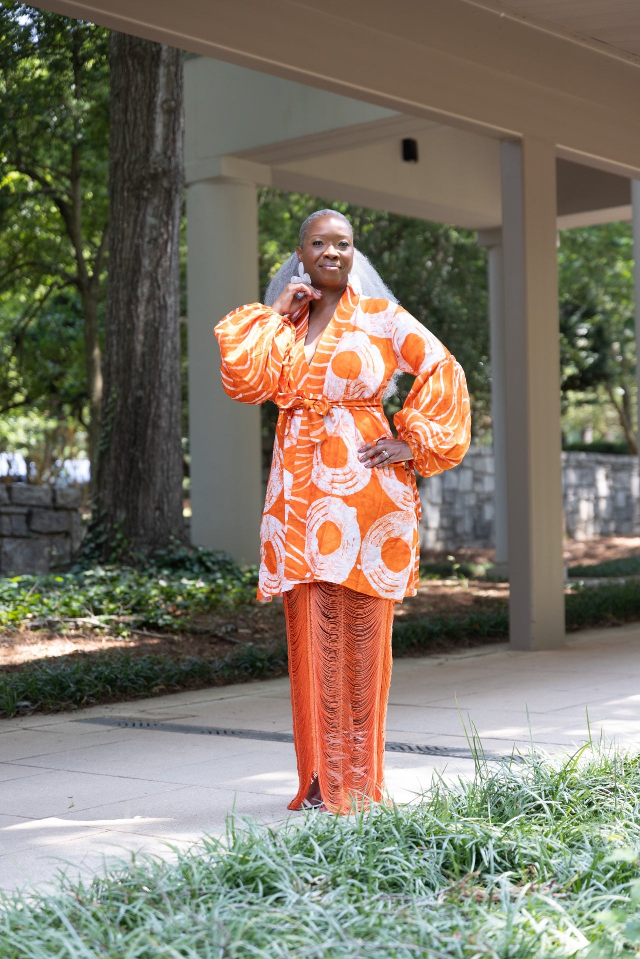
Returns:
[[[0,412],[71,413],[91,445],[102,391],[107,36],[23,4],[0,7]]]

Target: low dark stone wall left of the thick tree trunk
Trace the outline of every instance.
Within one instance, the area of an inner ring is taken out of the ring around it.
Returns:
[[[0,483],[0,574],[49,573],[80,549],[82,494],[73,486]]]

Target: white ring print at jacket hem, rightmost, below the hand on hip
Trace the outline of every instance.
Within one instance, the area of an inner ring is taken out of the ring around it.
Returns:
[[[362,571],[382,596],[404,593],[414,568],[415,512],[387,513],[370,527],[363,540]],[[391,563],[391,566],[388,565]]]

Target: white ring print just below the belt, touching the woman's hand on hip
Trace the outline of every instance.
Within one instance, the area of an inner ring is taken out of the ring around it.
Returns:
[[[371,471],[358,459],[358,450],[365,445],[365,440],[353,413],[334,408],[325,423],[328,435],[316,447],[311,481],[323,493],[336,496],[359,493],[371,479]]]

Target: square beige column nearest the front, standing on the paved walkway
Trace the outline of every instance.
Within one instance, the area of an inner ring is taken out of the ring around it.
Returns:
[[[501,147],[510,640],[564,642],[556,151]]]

